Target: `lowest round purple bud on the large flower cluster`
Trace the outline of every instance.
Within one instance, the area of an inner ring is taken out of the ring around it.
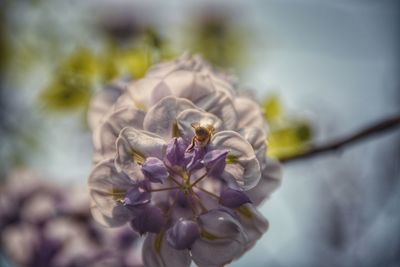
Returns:
[[[200,236],[197,223],[179,219],[167,232],[167,241],[175,249],[189,249]]]

